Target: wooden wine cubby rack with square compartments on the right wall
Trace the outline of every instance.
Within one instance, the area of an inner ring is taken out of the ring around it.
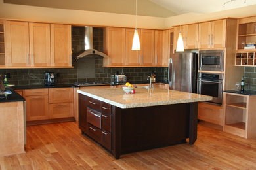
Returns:
[[[236,66],[256,66],[256,52],[236,52],[235,58]]]

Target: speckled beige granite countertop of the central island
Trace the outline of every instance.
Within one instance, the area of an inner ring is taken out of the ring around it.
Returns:
[[[212,97],[207,95],[180,92],[163,88],[136,88],[135,90],[135,94],[126,94],[122,88],[83,89],[77,90],[77,92],[123,109],[192,103],[212,99]]]

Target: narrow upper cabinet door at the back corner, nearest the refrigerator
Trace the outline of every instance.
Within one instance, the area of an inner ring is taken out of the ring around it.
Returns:
[[[169,58],[170,58],[170,44],[171,43],[171,36],[170,30],[163,31],[163,66],[169,65]]]

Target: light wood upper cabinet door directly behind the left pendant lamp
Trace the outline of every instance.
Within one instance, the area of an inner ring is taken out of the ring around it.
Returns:
[[[133,46],[133,35],[135,29],[125,29],[125,65],[137,66],[140,65],[140,50],[131,50]],[[140,37],[140,29],[137,29]],[[141,45],[141,39],[140,39]],[[140,46],[141,48],[141,46]]]

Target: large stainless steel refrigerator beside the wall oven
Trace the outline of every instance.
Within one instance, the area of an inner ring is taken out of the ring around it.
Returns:
[[[196,93],[196,80],[198,76],[198,54],[175,53],[169,59],[169,87],[182,92]]]

